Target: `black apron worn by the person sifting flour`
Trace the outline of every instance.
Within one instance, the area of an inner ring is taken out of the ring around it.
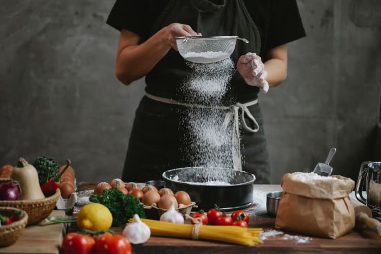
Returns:
[[[231,55],[236,63],[239,56],[247,52],[260,52],[260,36],[242,0],[221,0],[220,5],[207,0],[176,1],[168,3],[162,15],[152,28],[152,34],[174,22],[190,25],[203,36],[237,35],[249,40],[249,44],[238,43]],[[185,60],[170,50],[147,74],[146,82],[154,77],[156,84],[179,84],[189,69]],[[165,75],[164,75],[165,74]],[[234,79],[242,79],[239,74]],[[147,86],[149,87],[149,86]],[[152,87],[152,86],[151,86]],[[159,85],[157,85],[158,88]],[[170,88],[169,88],[170,89]],[[160,89],[147,89],[154,96],[166,97]],[[228,91],[234,94],[234,87]],[[176,88],[176,100],[184,100],[181,90]],[[168,94],[172,99],[173,93]],[[167,98],[168,98],[167,97]],[[256,98],[253,98],[256,99]],[[269,164],[263,117],[258,104],[248,107],[256,118],[260,129],[256,133],[241,131],[242,169],[255,174],[256,183],[269,183]],[[124,181],[145,182],[162,179],[162,173],[169,169],[194,165],[189,156],[184,156],[184,128],[181,119],[186,118],[183,106],[166,104],[144,97],[136,111],[124,164]]]

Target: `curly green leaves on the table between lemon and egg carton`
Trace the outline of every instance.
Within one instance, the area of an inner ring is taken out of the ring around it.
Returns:
[[[105,205],[110,210],[113,227],[126,224],[134,214],[145,218],[144,209],[139,200],[132,195],[125,196],[116,187],[104,189],[103,196],[92,194],[89,200]]]

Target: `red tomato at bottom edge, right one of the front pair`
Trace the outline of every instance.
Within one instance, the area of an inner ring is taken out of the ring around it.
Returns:
[[[97,254],[131,254],[131,244],[121,235],[105,233],[97,238]]]

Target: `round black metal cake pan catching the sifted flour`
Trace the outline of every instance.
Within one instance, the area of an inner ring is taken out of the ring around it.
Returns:
[[[221,211],[239,210],[249,207],[253,200],[253,182],[256,177],[245,171],[211,168],[189,167],[165,171],[163,178],[166,187],[175,193],[184,190],[198,209],[209,210],[214,204]],[[206,185],[206,182],[220,181],[229,184]]]

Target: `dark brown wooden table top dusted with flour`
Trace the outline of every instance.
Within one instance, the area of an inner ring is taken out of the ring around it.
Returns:
[[[92,183],[78,184],[79,199],[74,214],[86,203],[85,196],[88,197],[90,195],[89,189],[93,189],[95,186],[96,184]],[[281,190],[280,185],[255,184],[254,189],[253,204],[244,209],[250,217],[249,227],[263,228],[264,232],[275,230],[275,217],[269,216],[266,212],[266,194]],[[112,229],[120,234],[123,227]],[[69,231],[77,231],[76,225],[72,224]],[[146,243],[133,245],[133,251],[135,253],[381,253],[381,237],[369,229],[353,230],[337,239],[295,235],[282,231],[277,233],[279,235],[268,236],[264,239],[263,244],[255,246],[151,236]]]

